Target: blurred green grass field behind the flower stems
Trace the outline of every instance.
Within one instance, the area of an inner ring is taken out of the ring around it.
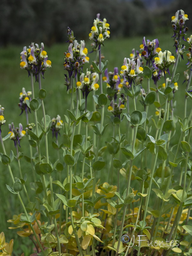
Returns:
[[[188,36],[190,33],[188,33]],[[173,48],[173,40],[171,38],[172,34],[159,34],[154,36],[146,36],[146,39],[153,40],[154,38],[158,38],[159,40],[159,47],[162,48],[162,51],[169,50],[172,53],[175,53],[175,49]],[[187,37],[186,37],[187,38]],[[41,42],[35,42],[40,45]],[[118,67],[119,71],[121,69],[121,66],[123,65],[124,57],[129,57],[129,54],[132,52],[132,48],[135,48],[135,50],[139,50],[139,45],[142,43],[142,37],[133,37],[133,38],[117,38],[117,39],[108,39],[105,42],[105,46],[102,47],[102,53],[105,56],[105,60],[109,61],[108,64],[108,71],[113,71],[114,67]],[[183,41],[184,44],[186,42]],[[25,45],[30,44],[30,42],[25,42]],[[22,123],[25,127],[26,119],[25,114],[20,115],[20,109],[17,106],[19,103],[19,93],[22,90],[22,87],[26,88],[26,91],[31,91],[30,87],[30,78],[28,77],[28,72],[26,70],[20,69],[20,52],[22,51],[24,45],[20,46],[13,46],[10,45],[7,48],[1,48],[0,49],[0,104],[5,108],[4,111],[4,117],[6,120],[5,126],[2,126],[2,136],[4,137],[8,132],[8,124],[11,122],[14,122],[15,126],[18,126],[19,123]],[[187,46],[187,44],[186,44]],[[91,51],[90,47],[90,41],[86,42],[86,47],[88,48],[88,51]],[[186,47],[188,48],[188,46]],[[69,108],[70,105],[70,95],[66,93],[66,86],[64,85],[64,69],[63,69],[63,63],[64,63],[64,52],[68,49],[68,44],[55,44],[52,47],[48,48],[45,45],[45,50],[48,53],[49,60],[52,61],[52,68],[48,68],[47,71],[44,74],[45,79],[42,80],[42,88],[44,88],[47,91],[47,97],[44,100],[45,110],[46,114],[50,115],[52,117],[56,117],[58,114],[63,119],[63,115],[67,115],[66,110]],[[184,97],[185,97],[185,88],[186,84],[182,84],[184,81],[183,71],[187,69],[187,66],[185,64],[187,63],[187,59],[185,57],[186,54],[184,54],[184,60],[181,60],[178,64],[178,69],[176,73],[180,73],[180,78],[178,81],[179,85],[179,91],[175,93],[174,100],[177,101],[177,108],[175,109],[175,115],[182,117],[183,116],[183,109],[184,109]],[[95,53],[89,54],[90,57],[90,63],[95,58]],[[85,65],[84,72],[86,71],[86,68],[89,67],[88,64]],[[167,74],[168,75],[168,74]],[[159,84],[163,83],[160,81]],[[147,88],[147,81],[144,79],[143,88]],[[153,81],[151,81],[150,86],[154,86]],[[106,84],[103,84],[104,92],[106,92]],[[38,84],[35,83],[35,94],[36,97],[38,95]],[[88,109],[92,111],[92,92],[89,94],[89,102],[88,102]],[[161,102],[163,102],[163,96],[160,96]],[[132,108],[132,101],[130,101],[130,113],[133,110]],[[89,105],[90,104],[90,105]],[[108,105],[110,102],[108,101]],[[90,106],[90,107],[89,107]],[[138,102],[137,104],[139,110],[143,110],[143,107]],[[188,104],[187,113],[191,111],[191,102]],[[106,114],[107,112],[107,106],[106,106]],[[126,112],[126,110],[124,110]],[[149,106],[149,116],[155,114],[155,107]],[[42,110],[41,108],[38,111],[38,121],[42,119]],[[29,115],[29,121],[34,122],[33,114]],[[108,122],[108,119],[105,118],[105,124]],[[121,127],[121,133],[127,132],[127,122],[123,121],[122,127]],[[82,126],[82,133],[84,126]],[[152,130],[152,134],[154,135],[155,130]],[[88,127],[88,133],[92,136],[92,127]],[[84,133],[83,133],[84,134]],[[89,134],[88,134],[89,135]],[[109,125],[107,128],[107,132],[105,134],[104,140],[102,140],[103,146],[105,145],[105,141],[111,140],[110,135],[112,135],[112,125]],[[175,135],[175,140],[177,140],[177,133]],[[59,138],[59,140],[61,140]],[[52,143],[52,137],[51,134],[49,134],[49,142]],[[42,147],[44,141],[42,142]],[[20,151],[23,151],[25,155],[29,155],[28,151],[28,141],[27,138],[24,138],[21,141],[21,149]],[[6,140],[5,141],[5,148],[7,152],[10,152],[10,149],[14,150],[13,141]],[[1,151],[0,146],[0,151]],[[56,160],[56,152],[54,149],[52,149],[52,146],[50,145],[50,159]],[[137,163],[134,163],[137,164]],[[108,164],[107,164],[108,166]],[[106,168],[100,173],[98,176],[101,178],[101,181],[105,181],[107,177],[108,169]],[[28,188],[29,194],[33,194],[34,191],[32,191],[32,188],[30,187],[30,179],[32,179],[31,175],[31,167],[30,164],[27,163],[24,158],[21,159],[21,167],[23,170],[23,174],[27,173],[28,180],[26,187]],[[14,161],[12,163],[12,170],[14,173],[14,176],[17,176],[18,170],[17,170],[17,163]],[[55,174],[56,175],[56,174]],[[63,177],[65,177],[66,172],[63,171]],[[9,177],[8,170],[6,166],[3,166],[0,164],[0,231],[4,231],[6,235],[6,242],[9,242],[11,238],[14,238],[14,255],[20,255],[22,252],[25,252],[25,256],[32,253],[31,249],[31,243],[28,238],[20,238],[16,234],[16,230],[9,230],[8,227],[10,226],[9,223],[6,221],[8,219],[12,218],[13,214],[19,214],[22,212],[22,209],[20,207],[20,204],[17,200],[17,197],[13,194],[11,194],[5,184],[11,185],[11,180]],[[124,187],[126,180],[122,179],[122,188]],[[114,177],[114,184],[116,184],[116,177]],[[31,189],[31,191],[30,191]],[[31,201],[34,201],[34,198],[31,198]]]

